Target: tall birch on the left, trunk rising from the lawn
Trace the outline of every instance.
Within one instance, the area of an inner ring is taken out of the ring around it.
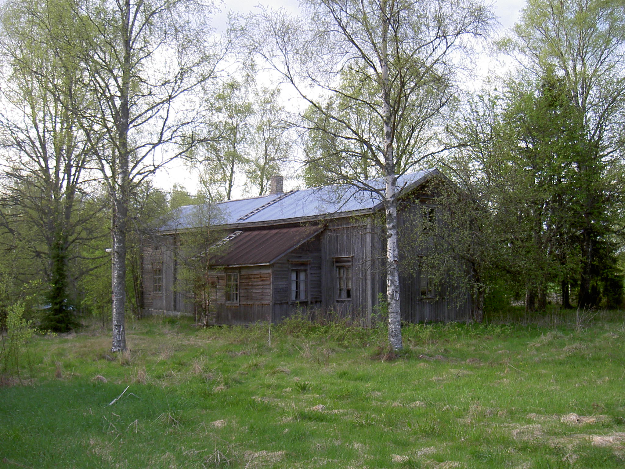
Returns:
[[[91,31],[83,58],[97,108],[81,114],[101,130],[93,144],[113,206],[113,351],[126,349],[126,235],[131,193],[196,144],[200,100],[226,54],[207,24],[210,6],[191,0],[87,2],[76,21]],[[92,142],[93,143],[93,142]]]

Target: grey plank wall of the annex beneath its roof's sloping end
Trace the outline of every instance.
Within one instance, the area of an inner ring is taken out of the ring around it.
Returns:
[[[298,264],[301,261],[301,264]],[[291,303],[291,263],[307,266],[309,302]],[[317,235],[296,250],[287,253],[272,266],[273,315],[279,322],[321,303],[321,236]]]

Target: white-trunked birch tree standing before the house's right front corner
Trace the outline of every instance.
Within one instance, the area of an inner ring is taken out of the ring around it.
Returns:
[[[493,16],[479,0],[319,0],[306,13],[266,12],[255,28],[257,51],[308,104],[301,127],[346,144],[384,178],[378,189],[362,173],[345,171],[349,165],[317,161],[335,182],[372,191],[384,204],[388,335],[399,350],[397,176],[441,151],[436,136],[454,101],[456,74]],[[369,124],[355,125],[354,114]]]

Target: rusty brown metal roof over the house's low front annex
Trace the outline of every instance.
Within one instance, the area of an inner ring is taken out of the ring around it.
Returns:
[[[238,232],[227,241],[226,253],[214,256],[211,263],[222,266],[271,264],[322,229],[320,226],[298,226]]]

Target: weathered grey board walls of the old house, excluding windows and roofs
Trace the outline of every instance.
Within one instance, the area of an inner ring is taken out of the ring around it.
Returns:
[[[411,229],[409,220],[421,213],[421,200],[406,199],[398,216],[400,229]],[[423,195],[423,194],[421,194]],[[216,270],[206,281],[216,285],[214,318],[217,324],[249,324],[256,321],[280,321],[295,313],[309,318],[353,318],[363,325],[379,320],[379,298],[386,295],[386,238],[384,215],[377,213],[361,218],[330,219],[327,228],[296,250],[282,256],[271,266],[241,267],[239,272],[239,304],[225,302],[226,270]],[[264,227],[269,228],[269,227]],[[401,231],[400,231],[401,236]],[[174,235],[158,236],[143,246],[143,306],[146,310],[194,313],[193,296],[177,284],[176,246]],[[435,286],[434,298],[421,298],[419,271],[409,260],[427,255],[429,246],[404,244],[399,261],[404,268],[400,275],[402,321],[454,321],[470,318],[471,298],[452,301],[456,288],[451,283]],[[336,258],[350,258],[352,298],[337,299]],[[291,263],[307,266],[308,299],[291,302]],[[153,291],[154,266],[163,265],[163,293]],[[181,290],[178,291],[178,288]],[[461,304],[458,304],[461,303]]]

